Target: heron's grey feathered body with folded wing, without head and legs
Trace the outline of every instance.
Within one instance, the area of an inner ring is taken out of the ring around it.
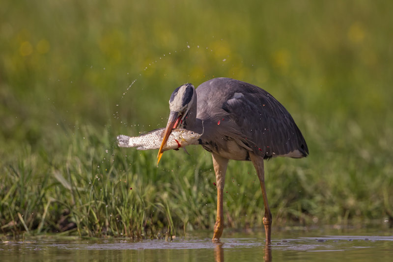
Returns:
[[[204,122],[206,129],[200,141],[208,151],[222,154],[231,148],[230,151],[239,150],[234,148],[234,141],[243,151],[253,151],[264,158],[309,154],[292,116],[267,91],[228,78],[208,80],[196,90],[197,119]],[[239,154],[231,159],[249,160],[248,154]]]

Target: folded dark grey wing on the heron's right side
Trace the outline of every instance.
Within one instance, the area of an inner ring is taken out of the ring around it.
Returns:
[[[255,143],[249,145],[255,154],[270,158],[298,150],[299,157],[308,155],[302,133],[280,102],[252,84],[244,83],[237,92],[242,96],[228,99],[223,109],[232,114],[247,140]]]

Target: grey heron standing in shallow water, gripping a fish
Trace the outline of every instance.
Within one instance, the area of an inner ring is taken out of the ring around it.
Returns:
[[[176,88],[169,99],[168,124],[158,152],[178,127],[201,133],[198,143],[212,153],[217,186],[217,220],[213,242],[224,230],[223,193],[229,159],[252,161],[262,190],[266,243],[271,242],[272,214],[264,179],[264,159],[307,157],[306,141],[291,115],[265,90],[243,81],[215,78],[197,87]]]

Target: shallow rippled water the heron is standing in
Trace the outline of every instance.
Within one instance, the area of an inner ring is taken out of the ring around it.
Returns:
[[[392,261],[393,235],[324,235],[322,231],[276,232],[272,245],[263,234],[229,233],[219,244],[208,233],[143,240],[41,236],[0,243],[1,261]],[[322,233],[322,234],[321,234]],[[328,232],[329,233],[329,232]],[[354,232],[350,232],[354,233]],[[390,235],[390,236],[386,236]]]

